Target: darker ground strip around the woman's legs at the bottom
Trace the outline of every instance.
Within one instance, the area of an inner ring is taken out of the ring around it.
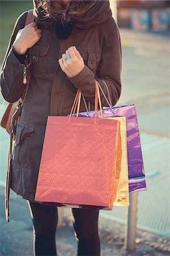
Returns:
[[[27,200],[11,191],[10,222],[5,221],[4,188],[0,187],[0,255],[33,256],[32,220]],[[101,213],[101,211],[100,211]],[[70,210],[63,208],[64,226],[58,226],[56,245],[58,256],[75,256],[76,240]],[[162,256],[169,255],[170,239],[147,232],[137,232],[137,250],[128,253],[124,250],[124,225],[106,220],[99,215],[101,256]]]

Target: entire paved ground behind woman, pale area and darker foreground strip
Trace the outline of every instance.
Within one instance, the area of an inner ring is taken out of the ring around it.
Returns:
[[[147,191],[138,195],[137,251],[128,255],[166,255],[170,250],[169,212],[169,72],[170,42],[167,34],[120,30],[123,47],[122,94],[117,105],[134,103],[138,123]],[[3,109],[6,108],[6,105]],[[1,112],[2,114],[3,112]],[[32,224],[27,201],[12,194],[11,222],[4,217],[4,183],[8,136],[1,129],[1,251],[0,255],[32,255]],[[126,255],[122,246],[126,208],[100,211],[101,255]],[[58,227],[58,255],[76,255],[76,241],[68,209],[65,226]],[[145,231],[143,231],[145,230]],[[146,232],[147,230],[147,232]],[[10,246],[8,241],[10,241]],[[22,241],[22,243],[20,242]],[[24,242],[25,241],[25,242]]]

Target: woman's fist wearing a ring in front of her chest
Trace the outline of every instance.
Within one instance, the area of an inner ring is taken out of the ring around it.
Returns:
[[[66,57],[67,59],[65,59]],[[75,46],[69,47],[66,52],[62,54],[58,63],[62,71],[70,78],[78,75],[84,68],[84,60]]]

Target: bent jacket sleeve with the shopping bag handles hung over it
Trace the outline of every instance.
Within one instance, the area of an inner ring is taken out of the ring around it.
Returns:
[[[84,65],[82,71],[78,75],[68,79],[73,82],[76,88],[79,88],[84,94],[86,100],[94,104],[95,101],[95,80],[99,82],[101,89],[109,100],[108,90],[111,96],[112,106],[114,106],[121,94],[121,71],[122,71],[122,49],[120,31],[117,23],[112,19],[111,32],[105,36],[103,42],[103,49],[101,52],[101,59],[99,67],[97,68],[96,77],[87,65]],[[102,81],[104,80],[105,83]],[[107,90],[108,87],[108,90]],[[99,89],[100,90],[100,89]],[[103,93],[100,90],[101,104],[108,106]]]

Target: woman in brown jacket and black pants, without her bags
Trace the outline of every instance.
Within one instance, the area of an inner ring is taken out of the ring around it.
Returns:
[[[28,200],[35,255],[57,255],[57,208],[36,203],[35,191],[48,115],[67,115],[77,89],[94,110],[95,79],[112,105],[121,93],[120,33],[109,1],[35,1],[34,22],[24,27],[27,11],[16,20],[2,65],[1,90],[8,102],[23,94],[23,70],[31,81],[15,127],[10,188]],[[108,106],[102,93],[101,103]],[[86,111],[83,102],[80,112]],[[78,255],[100,255],[98,209],[71,209]],[[6,217],[8,220],[8,213]]]

